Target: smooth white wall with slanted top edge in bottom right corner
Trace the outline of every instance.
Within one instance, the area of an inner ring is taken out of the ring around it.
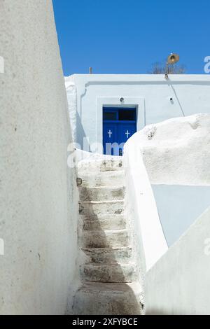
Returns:
[[[146,274],[146,314],[210,314],[210,209]]]

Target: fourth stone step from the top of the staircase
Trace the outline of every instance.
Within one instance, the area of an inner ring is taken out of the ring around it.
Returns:
[[[123,214],[124,200],[79,202],[80,215]]]

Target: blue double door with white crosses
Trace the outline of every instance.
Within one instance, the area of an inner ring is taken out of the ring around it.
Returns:
[[[103,146],[106,155],[123,155],[127,139],[137,132],[136,108],[103,109]]]

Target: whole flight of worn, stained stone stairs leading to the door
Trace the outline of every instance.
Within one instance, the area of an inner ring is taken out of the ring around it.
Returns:
[[[142,290],[125,218],[122,158],[78,167],[80,280],[73,314],[143,314]]]

